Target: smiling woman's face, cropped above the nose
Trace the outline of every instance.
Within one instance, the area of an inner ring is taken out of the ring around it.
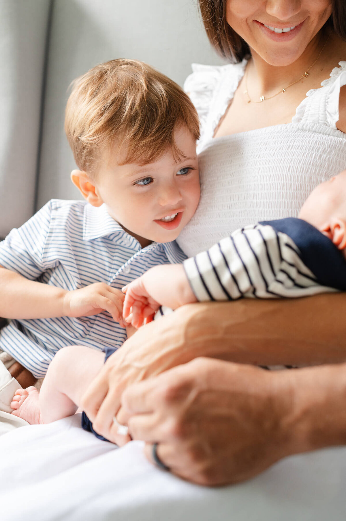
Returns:
[[[332,13],[331,0],[227,0],[226,9],[232,29],[277,67],[294,63]]]

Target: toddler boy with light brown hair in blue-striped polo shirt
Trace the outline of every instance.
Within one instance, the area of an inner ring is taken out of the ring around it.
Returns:
[[[76,79],[65,131],[86,201],[52,200],[0,244],[0,316],[13,319],[0,348],[36,377],[62,347],[123,344],[121,288],[182,262],[172,241],[199,201],[196,110],[152,67],[118,59]]]

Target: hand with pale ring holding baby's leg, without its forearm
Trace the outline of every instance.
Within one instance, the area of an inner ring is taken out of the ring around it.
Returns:
[[[117,434],[113,423],[122,392],[130,383],[189,362],[195,356],[194,349],[186,349],[185,341],[186,328],[194,312],[194,306],[186,306],[141,327],[108,358],[81,403],[99,434],[118,445],[129,441],[129,437]]]

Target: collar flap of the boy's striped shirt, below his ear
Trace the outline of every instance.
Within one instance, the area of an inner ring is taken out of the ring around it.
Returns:
[[[128,235],[122,226],[109,215],[105,204],[96,207],[87,203],[83,214],[83,240],[91,241],[113,233],[118,234],[119,237],[123,237],[124,234]]]

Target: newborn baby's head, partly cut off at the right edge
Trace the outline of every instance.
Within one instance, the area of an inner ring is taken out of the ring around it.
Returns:
[[[319,184],[299,212],[338,248],[346,247],[346,170]]]

